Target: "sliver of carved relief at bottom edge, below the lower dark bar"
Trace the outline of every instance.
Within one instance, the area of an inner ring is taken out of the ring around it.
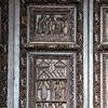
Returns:
[[[49,105],[46,104],[37,104],[37,108],[64,108],[63,104],[62,103],[58,103],[58,104],[53,104],[50,103]]]

